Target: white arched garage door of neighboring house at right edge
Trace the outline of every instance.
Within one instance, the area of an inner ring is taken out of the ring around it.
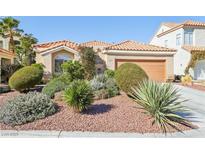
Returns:
[[[205,60],[197,61],[194,67],[194,79],[205,80]]]

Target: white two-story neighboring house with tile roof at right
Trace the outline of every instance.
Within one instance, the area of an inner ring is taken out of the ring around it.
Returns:
[[[184,75],[193,53],[205,52],[205,23],[186,21],[184,23],[162,23],[150,41],[152,45],[174,48],[174,74]],[[196,80],[205,79],[205,60],[200,59],[189,69]]]

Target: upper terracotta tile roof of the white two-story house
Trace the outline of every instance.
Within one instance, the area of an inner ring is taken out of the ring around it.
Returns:
[[[188,20],[188,21],[185,21],[181,24],[177,24],[176,26],[172,27],[171,29],[167,30],[167,31],[164,31],[160,34],[158,34],[157,36],[158,37],[161,37],[165,34],[168,34],[170,32],[173,32],[179,28],[184,28],[184,27],[200,27],[200,28],[205,28],[205,22],[197,22],[197,21],[191,21],[191,20]]]

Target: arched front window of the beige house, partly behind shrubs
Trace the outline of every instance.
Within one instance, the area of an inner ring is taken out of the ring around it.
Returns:
[[[61,64],[63,64],[66,61],[71,60],[71,58],[66,55],[66,54],[59,54],[55,57],[55,72],[56,73],[61,73],[62,69],[61,69]]]

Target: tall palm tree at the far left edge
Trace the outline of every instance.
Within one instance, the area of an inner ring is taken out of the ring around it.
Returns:
[[[15,50],[14,36],[21,36],[22,29],[19,29],[19,21],[12,17],[1,18],[0,21],[0,35],[9,37],[9,51]]]

